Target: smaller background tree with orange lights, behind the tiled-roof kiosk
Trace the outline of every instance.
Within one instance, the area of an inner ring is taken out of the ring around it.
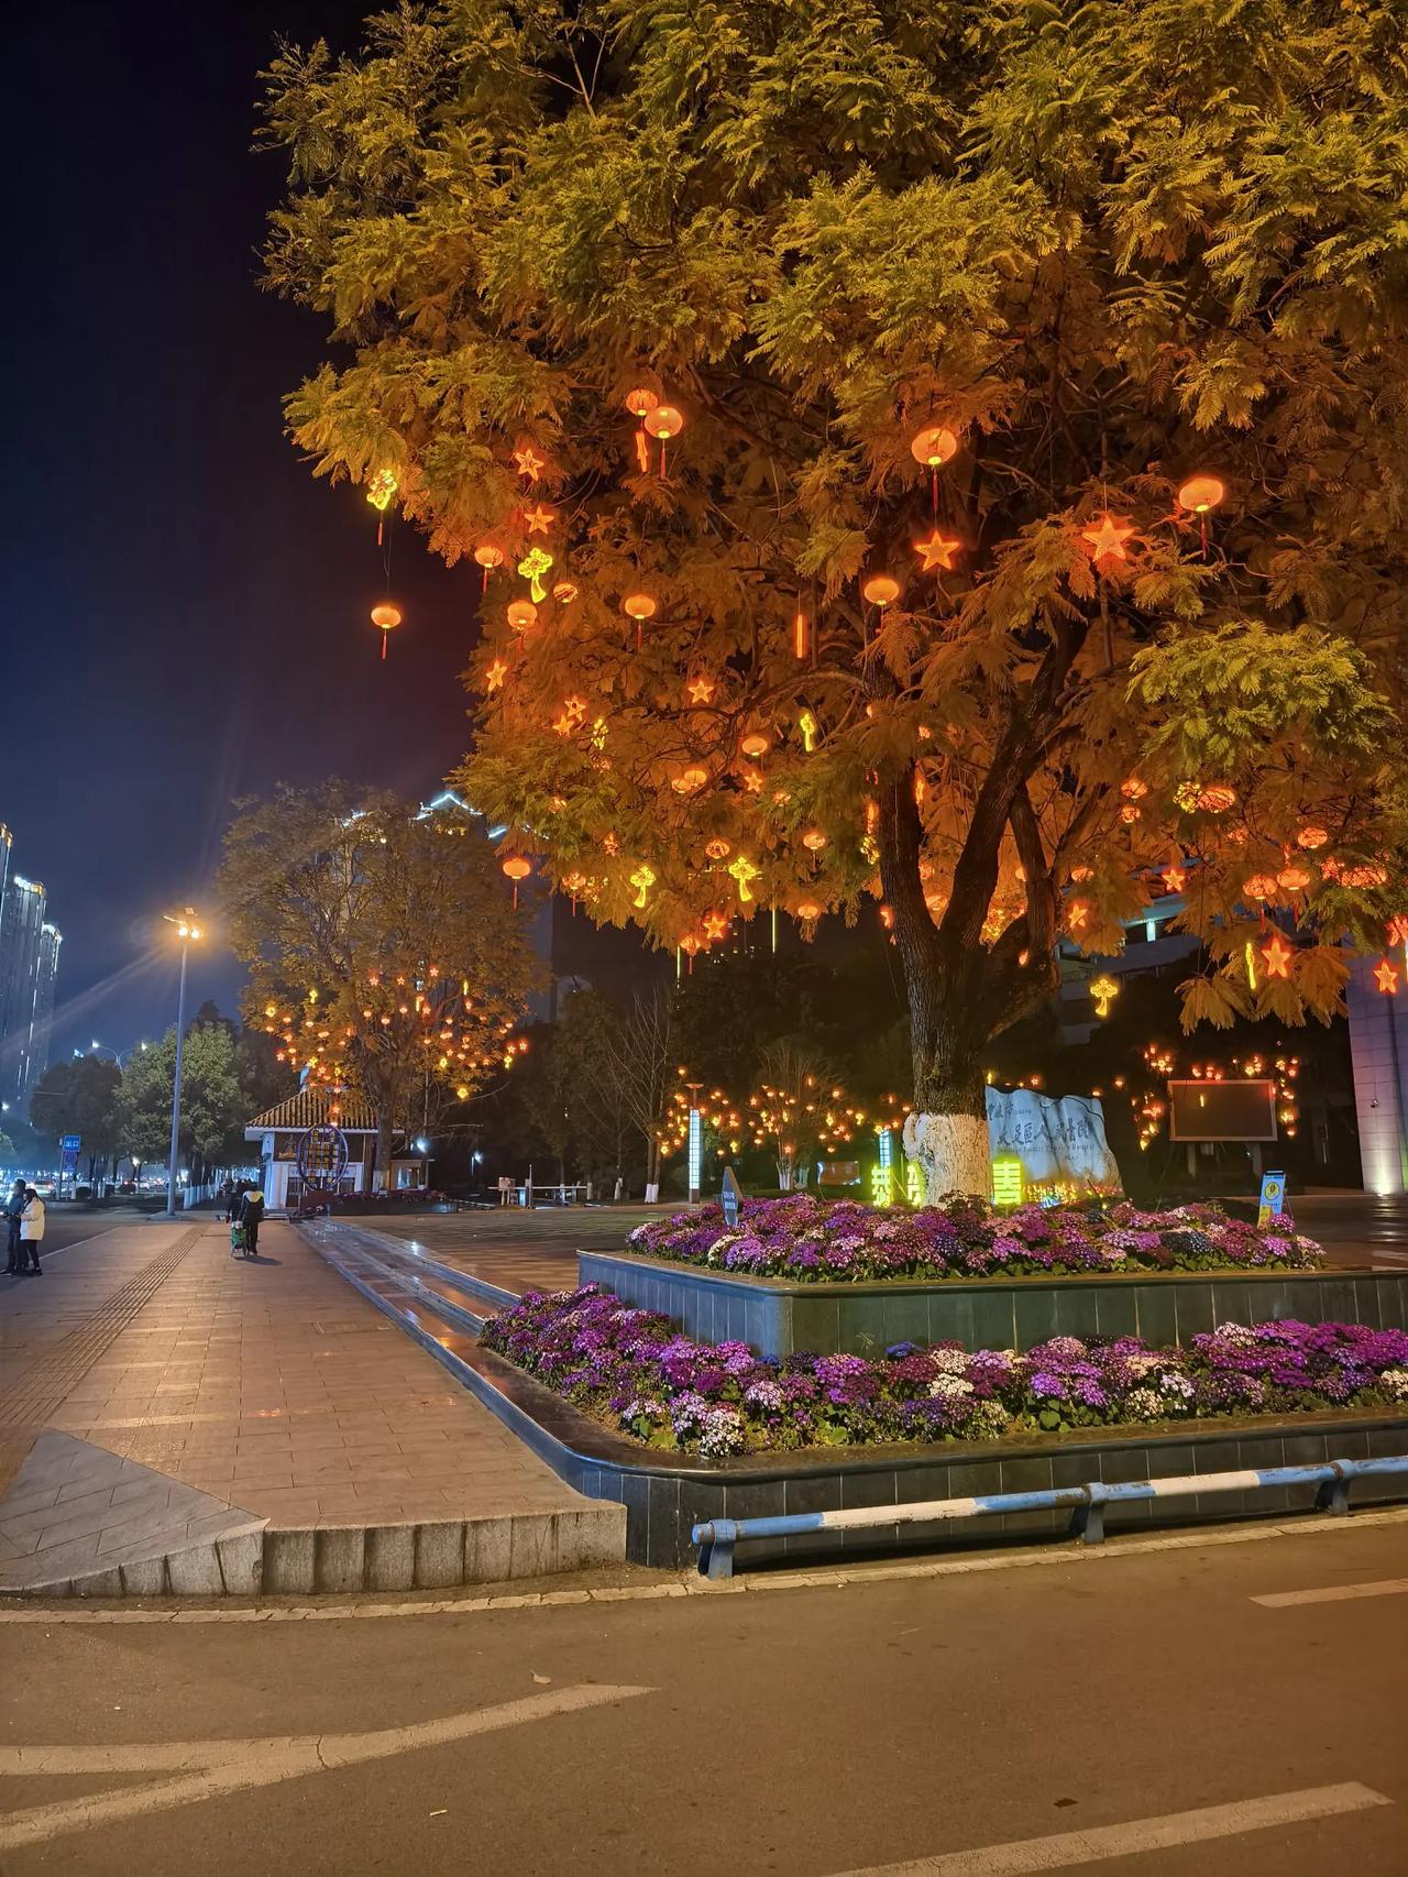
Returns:
[[[394,1132],[501,1074],[537,965],[481,824],[327,783],[246,801],[220,897],[250,967],[250,1025],[315,1087],[353,1091]]]

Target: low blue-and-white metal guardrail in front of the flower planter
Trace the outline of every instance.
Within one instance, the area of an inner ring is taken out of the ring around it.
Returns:
[[[1070,1507],[1072,1532],[1087,1545],[1106,1535],[1106,1505],[1125,1500],[1203,1498],[1254,1492],[1262,1487],[1316,1487],[1316,1507],[1348,1513],[1350,1483],[1376,1473],[1408,1473],[1408,1453],[1378,1460],[1327,1460],[1324,1466],[1267,1466],[1235,1473],[1185,1473],[1173,1479],[1126,1479],[1106,1485],[1053,1487],[1048,1492],[986,1492],[969,1500],[922,1500],[912,1505],[856,1505],[835,1513],[783,1513],[775,1518],[710,1518],[691,1532],[700,1547],[700,1577],[732,1577],[734,1545],[751,1537],[802,1537],[809,1532],[858,1532],[867,1526],[937,1524],[986,1513],[1038,1513]]]

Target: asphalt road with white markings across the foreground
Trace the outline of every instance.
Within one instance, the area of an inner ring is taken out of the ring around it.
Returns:
[[[0,1871],[1402,1877],[1406,1573],[1399,1520],[552,1609],[11,1605]]]

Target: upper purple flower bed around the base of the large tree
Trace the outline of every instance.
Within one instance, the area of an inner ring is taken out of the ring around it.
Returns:
[[[1121,1203],[1019,1205],[982,1199],[941,1207],[871,1207],[856,1199],[743,1199],[738,1226],[719,1205],[653,1218],[629,1237],[636,1252],[681,1265],[792,1282],[875,1278],[1063,1276],[1119,1271],[1316,1271],[1320,1246],[1290,1216],[1265,1231],[1215,1205],[1141,1213]]]

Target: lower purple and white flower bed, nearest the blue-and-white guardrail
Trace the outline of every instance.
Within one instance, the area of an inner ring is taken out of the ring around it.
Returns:
[[[482,1340],[614,1430],[706,1458],[1408,1406],[1408,1333],[1361,1323],[1224,1323],[1183,1350],[1055,1336],[1025,1355],[937,1342],[879,1361],[768,1363],[745,1342],[691,1342],[668,1318],[588,1286],[524,1297]]]

